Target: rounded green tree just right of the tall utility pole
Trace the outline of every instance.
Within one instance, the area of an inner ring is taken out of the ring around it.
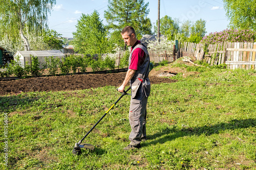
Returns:
[[[174,35],[179,32],[179,29],[178,19],[173,20],[172,17],[167,15],[160,19],[160,33],[165,35],[168,40],[173,40]],[[157,26],[154,27],[154,30],[157,32]]]

